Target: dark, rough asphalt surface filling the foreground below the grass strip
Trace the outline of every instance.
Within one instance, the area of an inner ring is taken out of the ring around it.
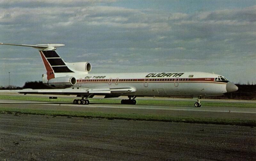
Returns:
[[[256,160],[255,127],[0,114],[0,160]]]

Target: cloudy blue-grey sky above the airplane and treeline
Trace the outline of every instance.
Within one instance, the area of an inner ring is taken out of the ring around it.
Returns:
[[[0,42],[59,43],[90,73],[208,72],[256,84],[255,0],[0,0]],[[37,49],[0,45],[0,86],[46,73]]]

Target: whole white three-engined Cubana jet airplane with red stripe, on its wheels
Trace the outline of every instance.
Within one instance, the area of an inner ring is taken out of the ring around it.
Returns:
[[[46,69],[43,83],[52,89],[1,90],[20,94],[77,95],[74,104],[89,104],[88,98],[104,95],[104,98],[128,96],[121,104],[136,104],[136,97],[191,96],[198,97],[195,107],[201,107],[202,96],[219,96],[235,92],[238,87],[224,76],[204,72],[145,72],[89,74],[89,62],[68,63],[56,52],[63,44],[22,45],[39,50]]]

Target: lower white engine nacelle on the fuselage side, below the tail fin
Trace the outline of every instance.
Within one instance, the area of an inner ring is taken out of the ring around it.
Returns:
[[[68,88],[76,85],[75,77],[57,77],[48,81],[48,86],[57,88]]]

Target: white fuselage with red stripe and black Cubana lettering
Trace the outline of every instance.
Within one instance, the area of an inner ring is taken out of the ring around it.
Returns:
[[[65,76],[76,78],[72,88],[134,88],[135,92],[120,94],[128,96],[217,96],[227,92],[227,81],[215,80],[220,75],[203,72],[72,73]]]

